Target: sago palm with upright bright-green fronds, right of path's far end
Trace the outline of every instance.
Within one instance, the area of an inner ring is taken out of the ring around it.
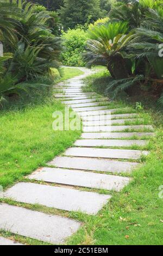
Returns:
[[[135,39],[126,22],[114,22],[97,26],[88,32],[87,52],[84,57],[89,66],[105,65],[112,77],[127,78],[131,75],[131,61],[126,58],[126,46]]]

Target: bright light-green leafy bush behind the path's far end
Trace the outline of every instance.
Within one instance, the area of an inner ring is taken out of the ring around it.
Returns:
[[[62,62],[68,66],[84,66],[82,53],[85,50],[87,34],[82,28],[68,29],[62,33]]]

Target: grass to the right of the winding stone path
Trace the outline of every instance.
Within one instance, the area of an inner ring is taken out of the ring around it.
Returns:
[[[99,88],[103,86],[99,83]],[[156,124],[151,154],[134,170],[133,181],[122,192],[113,192],[110,202],[97,216],[85,218],[85,225],[71,237],[69,245],[163,244],[163,198],[159,198],[159,186],[163,185],[162,119],[160,114],[147,112]]]

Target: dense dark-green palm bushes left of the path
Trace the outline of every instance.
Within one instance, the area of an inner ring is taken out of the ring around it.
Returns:
[[[21,90],[38,88],[39,76],[60,66],[60,39],[49,27],[53,20],[45,8],[26,1],[0,0],[0,100]],[[52,28],[54,29],[54,28]],[[32,81],[32,82],[31,82]],[[40,81],[40,79],[39,79]]]

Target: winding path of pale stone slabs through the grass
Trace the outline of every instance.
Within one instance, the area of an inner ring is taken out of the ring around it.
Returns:
[[[98,214],[111,198],[111,191],[121,191],[129,183],[128,174],[139,164],[137,160],[148,155],[146,150],[130,147],[145,146],[147,141],[142,136],[152,136],[153,132],[146,132],[146,129],[152,131],[153,127],[125,125],[126,120],[133,123],[139,115],[128,113],[128,108],[109,109],[106,102],[110,100],[106,97],[84,93],[83,78],[92,71],[83,70],[84,75],[61,82],[54,88],[55,97],[71,106],[82,118],[81,139],[62,156],[49,162],[49,167],[35,170],[28,176],[28,182],[19,182],[9,188],[4,193],[5,198],[88,215]],[[142,119],[139,121],[143,123]],[[132,129],[132,132],[126,129]],[[122,173],[125,176],[120,176]],[[108,194],[99,193],[99,190],[107,190]],[[40,241],[64,243],[81,225],[68,217],[0,205],[0,229]],[[0,245],[13,243],[0,237]]]

